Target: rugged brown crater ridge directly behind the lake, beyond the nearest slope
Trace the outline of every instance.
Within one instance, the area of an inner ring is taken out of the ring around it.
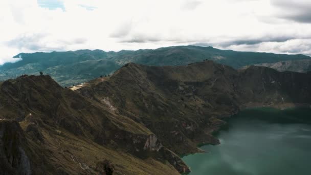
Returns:
[[[247,70],[205,61],[178,67],[125,64],[113,76],[77,91],[135,116],[178,155],[197,152],[199,143],[217,144],[211,131],[221,116],[253,106],[284,107],[311,102],[311,74]],[[206,127],[208,126],[208,127]]]

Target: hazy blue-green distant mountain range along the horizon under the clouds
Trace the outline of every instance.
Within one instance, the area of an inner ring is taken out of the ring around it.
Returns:
[[[310,59],[305,55],[236,52],[212,47],[176,46],[155,50],[104,52],[102,50],[78,50],[68,52],[20,53],[15,63],[0,66],[0,79],[16,78],[23,74],[38,75],[39,71],[51,75],[62,86],[71,86],[109,75],[122,65],[135,62],[145,65],[187,65],[203,60],[229,65],[235,69],[258,63],[285,60]]]

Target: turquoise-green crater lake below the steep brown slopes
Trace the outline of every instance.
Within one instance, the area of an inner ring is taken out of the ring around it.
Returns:
[[[311,110],[257,108],[240,112],[216,137],[220,145],[183,157],[191,175],[311,174]]]

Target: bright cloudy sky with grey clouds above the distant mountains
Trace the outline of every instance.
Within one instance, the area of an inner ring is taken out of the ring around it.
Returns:
[[[311,56],[311,1],[0,1],[0,64],[21,52],[179,45]]]

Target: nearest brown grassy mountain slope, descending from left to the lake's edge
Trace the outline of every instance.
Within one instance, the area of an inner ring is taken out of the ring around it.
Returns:
[[[0,88],[4,174],[179,174],[172,162],[187,171],[144,125],[48,75],[18,77]]]

